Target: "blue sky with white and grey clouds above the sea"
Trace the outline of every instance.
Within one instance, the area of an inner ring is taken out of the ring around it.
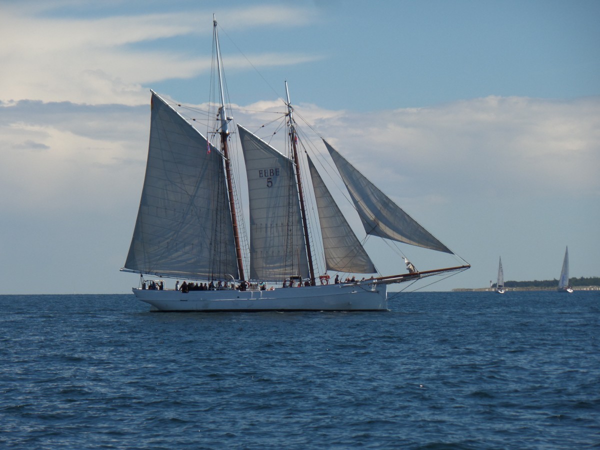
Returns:
[[[207,100],[213,13],[236,122],[287,80],[298,115],[472,265],[424,290],[487,287],[499,257],[505,280],[558,278],[567,246],[571,277],[600,275],[597,0],[2,0],[0,293],[137,286],[119,269],[150,89]]]

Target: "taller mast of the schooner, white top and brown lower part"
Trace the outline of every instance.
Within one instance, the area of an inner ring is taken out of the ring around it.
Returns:
[[[227,192],[229,193],[229,208],[231,210],[231,220],[233,223],[233,239],[235,240],[235,252],[238,259],[238,271],[239,279],[245,280],[244,275],[244,263],[242,262],[242,248],[239,244],[239,228],[238,228],[238,215],[235,209],[235,197],[233,196],[233,181],[232,181],[232,169],[231,160],[229,158],[229,120],[225,115],[225,95],[223,93],[223,77],[221,75],[221,49],[219,47],[219,37],[217,33],[217,19],[212,14],[212,24],[214,29],[215,46],[217,47],[217,71],[219,76],[219,93],[221,96],[221,107],[219,108],[219,118],[221,121],[221,127],[219,134],[221,135],[221,151],[225,157],[225,173],[227,178]]]

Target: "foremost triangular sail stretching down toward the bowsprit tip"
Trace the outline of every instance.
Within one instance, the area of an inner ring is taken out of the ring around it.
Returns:
[[[362,226],[368,235],[453,254],[448,247],[356,170],[325,139],[323,142],[346,184],[356,211],[361,217]]]

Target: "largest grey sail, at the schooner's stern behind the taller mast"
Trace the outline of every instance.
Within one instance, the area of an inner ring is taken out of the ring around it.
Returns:
[[[146,176],[125,269],[238,278],[223,157],[155,92]]]

